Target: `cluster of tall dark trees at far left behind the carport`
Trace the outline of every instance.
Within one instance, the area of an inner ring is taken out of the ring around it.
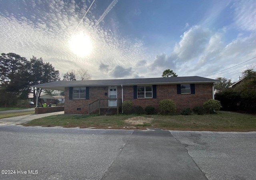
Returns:
[[[42,58],[32,57],[28,61],[15,53],[2,53],[0,56],[0,104],[15,105],[15,100],[27,99],[30,92],[36,91],[32,85],[59,80],[59,71]],[[40,90],[38,93],[40,93]]]

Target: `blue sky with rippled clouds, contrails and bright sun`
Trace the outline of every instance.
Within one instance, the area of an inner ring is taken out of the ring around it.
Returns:
[[[0,53],[42,57],[61,77],[235,82],[256,66],[256,0],[0,0]]]

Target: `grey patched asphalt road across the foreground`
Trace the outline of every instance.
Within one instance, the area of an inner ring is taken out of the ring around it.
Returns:
[[[16,170],[16,174],[0,174],[4,180],[256,177],[256,132],[2,125],[0,137],[0,170]],[[34,170],[34,174],[17,174],[17,170]]]

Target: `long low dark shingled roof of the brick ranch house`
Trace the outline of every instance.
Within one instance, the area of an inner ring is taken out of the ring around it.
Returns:
[[[138,78],[138,79],[105,79],[105,80],[60,80],[37,84],[32,87],[64,90],[65,87],[85,87],[85,86],[131,86],[139,84],[181,84],[181,83],[214,83],[217,80],[203,78],[200,76],[184,76],[184,77],[169,77],[169,78]]]

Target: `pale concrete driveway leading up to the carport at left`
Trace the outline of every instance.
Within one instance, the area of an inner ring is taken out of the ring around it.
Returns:
[[[29,115],[20,115],[20,116],[14,116],[14,117],[6,117],[6,118],[0,119],[0,125],[28,123],[33,119],[39,119],[41,117],[47,117],[50,115],[58,115],[58,114],[64,114],[64,111],[45,113],[45,114],[29,114]]]

